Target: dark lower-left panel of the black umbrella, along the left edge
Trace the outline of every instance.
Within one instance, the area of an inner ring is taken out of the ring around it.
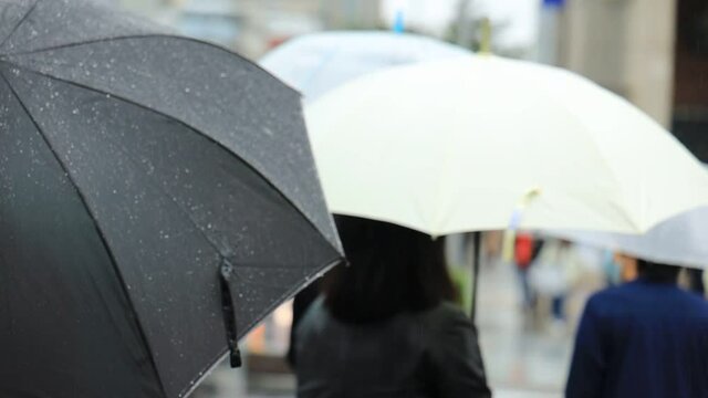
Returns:
[[[163,397],[79,193],[3,80],[0,103],[0,397]]]

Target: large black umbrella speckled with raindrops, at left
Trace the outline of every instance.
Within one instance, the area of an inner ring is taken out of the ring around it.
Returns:
[[[0,396],[186,396],[341,256],[299,94],[84,0],[0,19]]]

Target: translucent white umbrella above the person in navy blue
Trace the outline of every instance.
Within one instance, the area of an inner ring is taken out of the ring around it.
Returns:
[[[546,231],[544,234],[649,261],[708,268],[708,207],[671,217],[642,235],[598,231]]]

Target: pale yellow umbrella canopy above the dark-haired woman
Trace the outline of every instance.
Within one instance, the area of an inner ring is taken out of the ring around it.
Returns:
[[[639,233],[708,203],[708,176],[670,134],[560,69],[491,55],[393,67],[305,111],[333,212],[433,235]]]

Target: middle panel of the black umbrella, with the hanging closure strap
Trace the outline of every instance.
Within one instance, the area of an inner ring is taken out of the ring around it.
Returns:
[[[198,132],[32,72],[0,73],[102,226],[170,396],[225,352],[221,259],[236,266],[241,335],[319,271],[312,264],[337,259],[280,193]]]

